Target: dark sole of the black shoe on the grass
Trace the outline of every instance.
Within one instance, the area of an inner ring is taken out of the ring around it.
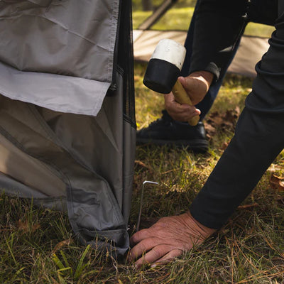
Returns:
[[[136,143],[138,145],[155,144],[158,146],[176,146],[178,148],[188,148],[195,152],[208,151],[208,142],[198,139],[196,139],[195,141],[188,141],[188,140],[162,140],[162,139],[137,138]]]

